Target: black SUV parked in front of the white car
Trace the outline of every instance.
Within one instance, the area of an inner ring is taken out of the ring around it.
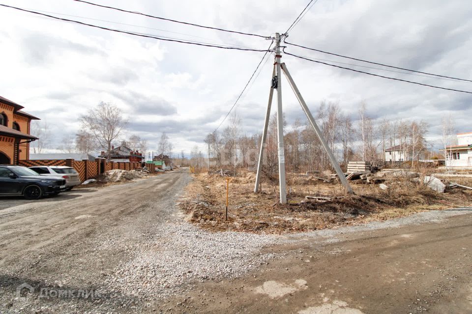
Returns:
[[[65,191],[65,180],[40,176],[27,167],[0,165],[0,195],[23,195],[37,200]]]

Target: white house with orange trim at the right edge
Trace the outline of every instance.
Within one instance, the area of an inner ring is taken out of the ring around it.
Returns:
[[[457,145],[446,146],[445,151],[446,167],[472,168],[472,132],[457,134]]]

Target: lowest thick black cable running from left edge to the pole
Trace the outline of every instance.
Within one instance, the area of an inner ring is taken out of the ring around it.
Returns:
[[[134,36],[139,36],[139,37],[145,37],[145,38],[152,38],[152,39],[157,39],[157,40],[163,40],[163,41],[170,41],[170,42],[176,42],[176,43],[181,43],[181,44],[189,44],[189,45],[196,45],[196,46],[204,46],[204,47],[213,47],[213,48],[220,48],[220,49],[231,49],[231,50],[242,50],[242,51],[255,51],[255,52],[268,52],[267,50],[259,50],[259,49],[251,49],[251,48],[238,48],[238,47],[224,47],[224,46],[219,46],[219,45],[210,45],[210,44],[205,44],[205,43],[197,43],[197,42],[190,42],[190,41],[185,41],[185,40],[177,40],[177,39],[169,39],[169,38],[164,38],[164,37],[159,37],[159,36],[153,36],[153,35],[146,35],[142,33],[135,33],[135,32],[130,32],[130,31],[125,31],[125,30],[119,30],[119,29],[114,29],[114,28],[109,28],[109,27],[104,27],[104,26],[98,26],[98,25],[93,25],[93,24],[88,24],[80,21],[75,21],[75,20],[69,20],[69,19],[64,19],[64,18],[59,18],[57,16],[49,15],[49,14],[44,14],[44,13],[39,13],[36,11],[31,11],[27,9],[22,9],[18,8],[15,6],[10,6],[6,4],[0,4],[0,6],[24,11],[24,12],[29,12],[41,16],[46,16],[49,18],[53,18],[56,20],[60,21],[65,21],[65,22],[71,22],[71,23],[76,23],[80,25],[85,25],[85,26],[90,26],[90,27],[95,27],[95,28],[100,28],[104,30],[110,30],[118,33],[123,33],[123,34],[128,34],[128,35],[134,35]]]

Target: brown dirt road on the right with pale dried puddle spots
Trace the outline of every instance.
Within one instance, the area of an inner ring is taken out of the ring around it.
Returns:
[[[463,210],[421,225],[295,235],[295,242],[268,248],[282,258],[237,280],[200,285],[170,304],[179,305],[177,313],[203,303],[215,314],[470,314],[472,209]],[[382,225],[390,226],[376,227]]]

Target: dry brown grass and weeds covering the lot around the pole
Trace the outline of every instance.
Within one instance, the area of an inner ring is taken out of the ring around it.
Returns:
[[[225,221],[225,180],[217,174],[195,174],[180,207],[189,221],[207,230],[283,234],[472,205],[472,190],[454,188],[437,193],[408,175],[385,177],[384,190],[365,181],[354,184],[355,195],[345,195],[341,184],[328,177],[323,173],[288,174],[288,204],[280,205],[276,181],[263,178],[261,192],[255,194],[255,174],[242,172],[230,182]],[[472,178],[460,182],[471,186]]]

